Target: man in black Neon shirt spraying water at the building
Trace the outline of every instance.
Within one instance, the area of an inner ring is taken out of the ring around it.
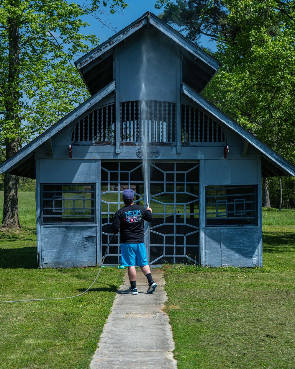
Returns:
[[[130,287],[124,293],[138,294],[135,265],[140,266],[143,274],[147,277],[149,283],[147,293],[153,293],[157,284],[152,279],[143,239],[143,221],[150,222],[152,220],[152,209],[150,207],[145,209],[134,204],[134,192],[131,189],[124,190],[122,197],[125,206],[116,212],[112,232],[117,234],[120,231],[121,265],[128,266]]]

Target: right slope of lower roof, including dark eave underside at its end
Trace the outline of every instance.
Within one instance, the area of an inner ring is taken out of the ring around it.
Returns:
[[[227,114],[223,113],[222,110],[212,104],[209,100],[205,99],[204,96],[191,89],[191,87],[185,83],[182,85],[182,93],[197,103],[201,110],[204,110],[207,114],[210,114],[215,121],[234,131],[237,135],[248,141],[252,146],[261,152],[263,156],[262,171],[264,176],[270,176],[270,172],[268,172],[268,170],[271,170],[271,174],[274,176],[295,176],[295,166],[293,164],[288,162],[268,145],[264,144],[264,142],[260,141],[260,139],[243,128]],[[277,169],[273,168],[273,166]]]

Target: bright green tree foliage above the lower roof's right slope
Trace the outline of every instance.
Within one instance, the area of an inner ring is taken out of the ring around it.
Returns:
[[[290,161],[295,161],[295,23],[277,1],[227,1],[235,37],[222,34],[222,68],[204,95]],[[294,17],[294,6],[289,6]],[[290,15],[291,14],[291,15]]]

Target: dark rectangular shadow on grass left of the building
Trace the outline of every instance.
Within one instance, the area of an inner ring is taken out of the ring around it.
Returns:
[[[37,247],[0,248],[0,268],[38,268]]]

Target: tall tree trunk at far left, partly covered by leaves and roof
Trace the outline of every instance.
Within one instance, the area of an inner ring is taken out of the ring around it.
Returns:
[[[15,4],[13,4],[15,6]],[[8,19],[9,32],[9,65],[7,80],[7,98],[5,123],[13,125],[14,138],[6,138],[6,159],[18,151],[18,130],[20,127],[20,36],[17,21]],[[3,219],[1,227],[20,228],[18,220],[18,177],[4,176],[4,204]]]

